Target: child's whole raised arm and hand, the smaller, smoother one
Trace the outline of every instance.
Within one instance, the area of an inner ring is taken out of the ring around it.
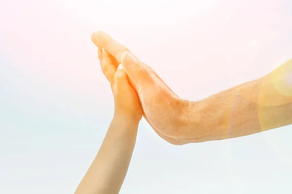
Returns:
[[[106,50],[98,51],[114,97],[114,116],[105,139],[75,194],[118,194],[126,177],[143,110],[122,65]],[[106,67],[107,66],[107,67]],[[105,68],[106,67],[106,68]],[[107,69],[107,70],[105,70]]]

